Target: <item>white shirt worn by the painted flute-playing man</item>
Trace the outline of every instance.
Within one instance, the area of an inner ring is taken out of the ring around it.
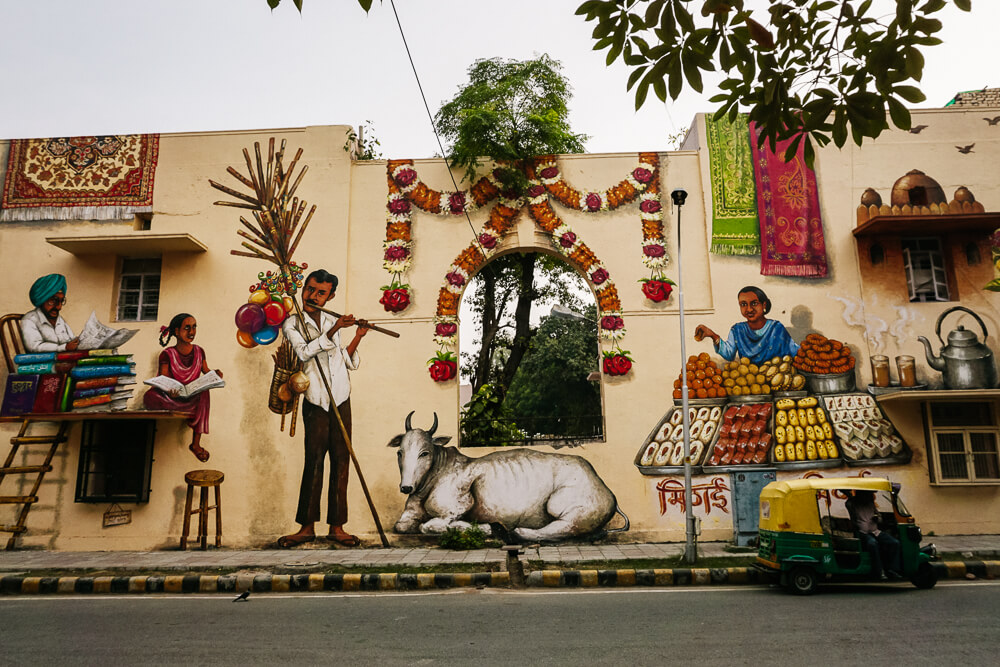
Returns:
[[[309,389],[306,390],[305,398],[315,406],[324,410],[330,409],[330,397],[326,393],[326,385],[323,378],[319,376],[317,363],[319,361],[323,368],[323,374],[330,382],[330,389],[333,390],[333,398],[337,405],[351,397],[351,378],[348,370],[356,371],[361,363],[357,350],[354,356],[347,354],[347,350],[340,344],[340,331],[333,334],[333,340],[326,335],[326,332],[337,323],[336,318],[320,313],[320,326],[316,328],[316,323],[308,315],[305,321],[308,326],[308,338],[312,342],[307,343],[303,336],[301,325],[298,324],[298,316],[289,315],[288,319],[281,325],[281,331],[285,338],[292,344],[295,354],[302,360],[302,371],[309,378]]]

